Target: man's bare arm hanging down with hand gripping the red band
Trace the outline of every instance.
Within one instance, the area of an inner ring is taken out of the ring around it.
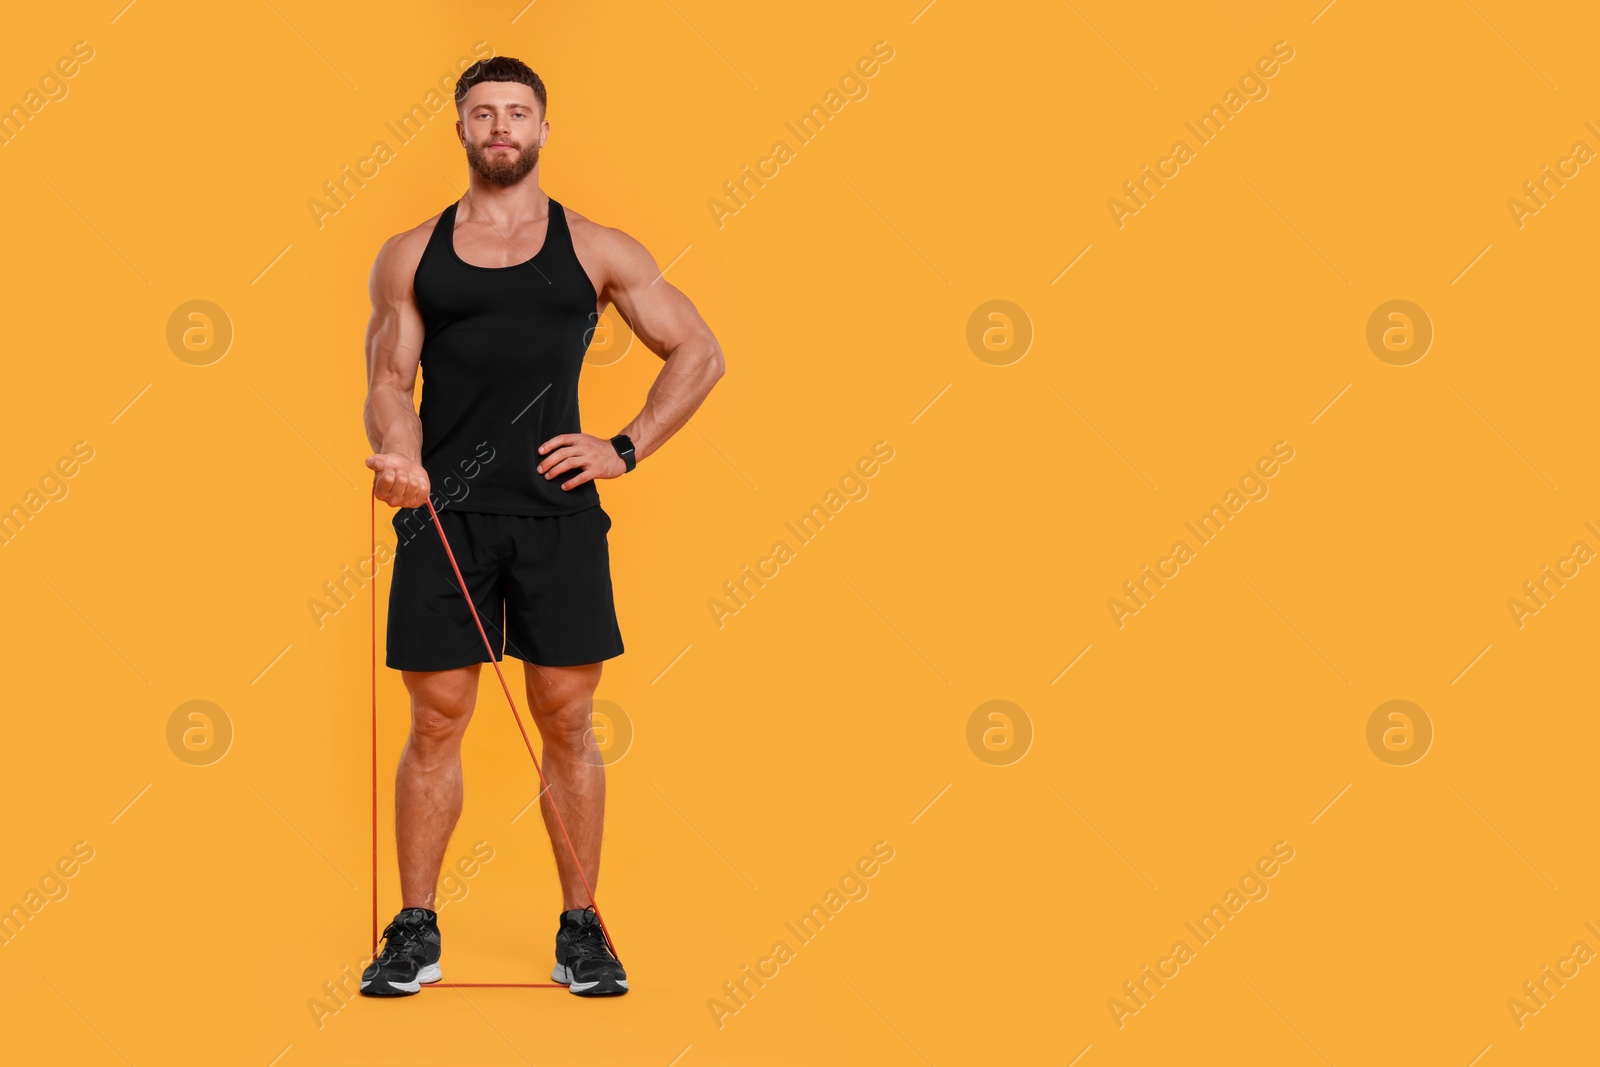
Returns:
[[[373,454],[373,496],[392,507],[421,507],[429,496],[422,469],[422,422],[416,416],[416,370],[426,333],[411,278],[427,245],[418,227],[384,242],[373,262],[368,290],[373,317],[366,325],[366,440]]]

